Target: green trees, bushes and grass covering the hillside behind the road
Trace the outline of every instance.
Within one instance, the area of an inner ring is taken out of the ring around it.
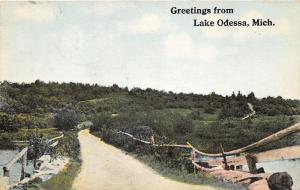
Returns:
[[[256,115],[241,120],[250,112],[247,103],[254,106]],[[143,140],[150,140],[153,135],[158,143],[185,144],[189,141],[198,149],[213,153],[220,151],[220,144],[225,150],[232,150],[257,141],[299,121],[299,115],[299,100],[282,97],[258,99],[254,93],[221,96],[214,92],[202,95],[150,88],[129,90],[118,85],[104,87],[39,80],[30,84],[0,82],[1,145],[5,142],[8,146],[11,139],[48,137],[63,130],[69,136],[62,143],[60,154],[75,158],[79,145],[77,140],[72,140],[74,126],[90,120],[93,122],[92,133],[106,142],[138,157],[155,155],[157,162],[165,167],[176,167],[187,173],[191,172],[186,159],[188,152],[153,150],[117,132],[128,132]],[[49,131],[43,133],[44,130]],[[292,136],[260,150],[295,143],[297,141]]]

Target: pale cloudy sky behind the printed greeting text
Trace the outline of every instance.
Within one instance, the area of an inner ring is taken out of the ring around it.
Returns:
[[[177,8],[234,14],[173,15]],[[270,18],[273,27],[194,27]],[[1,2],[0,81],[300,99],[297,2]]]

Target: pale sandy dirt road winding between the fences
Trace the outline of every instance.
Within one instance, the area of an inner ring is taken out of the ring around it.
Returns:
[[[211,190],[164,178],[138,160],[91,135],[79,133],[82,168],[74,181],[76,190]]]

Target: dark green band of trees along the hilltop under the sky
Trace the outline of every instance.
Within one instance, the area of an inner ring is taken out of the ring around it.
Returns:
[[[258,99],[254,93],[243,95],[240,92],[231,96],[221,96],[214,92],[208,95],[185,94],[158,91],[147,88],[120,88],[97,84],[57,83],[35,81],[34,83],[0,83],[2,103],[0,109],[12,113],[43,113],[53,109],[73,107],[78,102],[103,98],[114,94],[124,94],[135,98],[144,106],[154,109],[164,108],[203,108],[207,113],[221,110],[221,117],[242,117],[249,113],[247,102],[254,105],[258,114],[269,116],[300,114],[300,101],[282,97]],[[0,99],[1,101],[1,99]],[[100,109],[100,108],[99,108]],[[0,110],[1,111],[1,110]],[[101,111],[101,110],[100,110]]]

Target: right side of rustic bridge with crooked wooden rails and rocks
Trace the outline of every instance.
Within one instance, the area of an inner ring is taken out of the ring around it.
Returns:
[[[245,156],[240,156],[240,154],[246,153],[249,150],[264,146],[271,142],[275,142],[296,132],[300,132],[300,122],[281,131],[278,131],[277,133],[274,133],[255,143],[236,150],[225,152],[221,145],[222,152],[214,154],[202,152],[188,142],[186,145],[156,144],[153,136],[151,137],[151,142],[149,142],[138,139],[126,132],[119,131],[118,133],[126,135],[140,143],[148,144],[154,147],[179,147],[191,149],[191,162],[196,170],[206,175],[217,177],[225,181],[242,184],[250,190],[268,190],[269,186],[272,186],[276,183],[280,183],[279,185],[283,185],[286,187],[291,187],[293,184],[292,178],[286,172],[274,174],[264,173],[263,168],[256,168],[256,163],[300,158],[300,146],[286,147],[255,154],[246,154]],[[231,157],[229,158],[228,156]],[[203,160],[203,158],[206,159]],[[243,171],[243,165],[247,165],[249,171]],[[283,178],[285,180],[281,180]]]

